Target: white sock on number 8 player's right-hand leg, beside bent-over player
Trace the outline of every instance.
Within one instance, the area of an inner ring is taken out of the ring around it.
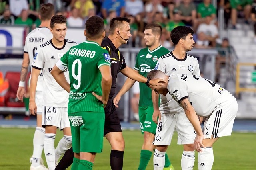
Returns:
[[[195,162],[195,151],[185,151],[183,150],[181,158],[181,169],[182,170],[192,170]]]

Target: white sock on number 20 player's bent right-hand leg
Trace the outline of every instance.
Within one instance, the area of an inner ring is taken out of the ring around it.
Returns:
[[[60,139],[58,146],[55,149],[55,162],[58,162],[60,156],[70,149],[71,145],[72,137],[64,135],[64,137]]]

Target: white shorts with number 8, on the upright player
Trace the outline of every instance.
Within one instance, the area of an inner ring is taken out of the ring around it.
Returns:
[[[193,144],[196,137],[194,127],[186,117],[185,113],[161,116],[156,127],[154,145],[168,146],[171,144],[174,130],[178,133],[178,144]]]

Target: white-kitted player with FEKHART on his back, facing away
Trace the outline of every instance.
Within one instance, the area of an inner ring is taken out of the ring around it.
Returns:
[[[25,46],[24,46],[24,57],[22,62],[22,68],[20,72],[20,83],[19,88],[17,90],[17,98],[23,101],[23,97],[25,94],[25,81],[28,72],[28,66],[34,60],[34,55],[38,47],[52,39],[52,33],[50,31],[50,20],[54,16],[54,6],[53,4],[43,4],[40,6],[39,18],[41,20],[40,27],[31,31],[26,37]],[[41,155],[44,145],[44,128],[42,127],[42,84],[43,77],[42,72],[38,77],[38,83],[36,87],[36,120],[37,127],[34,133],[33,139],[33,155],[30,158],[31,167],[30,170],[46,170],[43,165],[40,164],[42,162]]]

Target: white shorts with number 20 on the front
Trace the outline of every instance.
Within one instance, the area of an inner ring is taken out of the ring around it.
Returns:
[[[46,125],[56,126],[60,128],[60,130],[66,127],[70,127],[68,119],[68,108],[44,106],[42,127],[46,127]]]

